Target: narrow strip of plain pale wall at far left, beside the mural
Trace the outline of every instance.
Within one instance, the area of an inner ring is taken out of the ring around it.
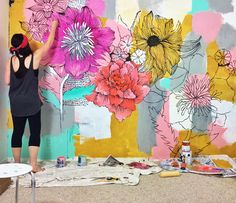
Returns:
[[[4,84],[4,70],[8,58],[8,1],[1,1],[0,12],[0,162],[7,160],[8,87]]]

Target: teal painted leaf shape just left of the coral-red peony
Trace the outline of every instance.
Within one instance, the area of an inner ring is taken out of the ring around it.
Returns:
[[[76,87],[64,93],[63,99],[64,100],[76,100],[82,99],[84,96],[89,95],[92,93],[94,86],[87,86],[87,87]]]

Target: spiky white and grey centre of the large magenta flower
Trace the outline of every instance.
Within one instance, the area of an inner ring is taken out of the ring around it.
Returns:
[[[69,51],[72,58],[82,60],[85,56],[93,55],[94,41],[90,27],[86,23],[73,24],[64,31],[65,35],[62,40],[62,48]]]

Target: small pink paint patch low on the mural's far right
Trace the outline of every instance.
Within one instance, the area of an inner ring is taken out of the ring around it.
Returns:
[[[212,140],[212,144],[216,145],[219,148],[228,145],[228,143],[224,140],[224,132],[226,131],[226,128],[222,128],[217,124],[211,123],[208,126],[208,131]]]

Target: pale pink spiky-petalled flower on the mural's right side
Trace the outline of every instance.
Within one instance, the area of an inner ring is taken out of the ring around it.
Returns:
[[[212,86],[208,76],[189,76],[181,90],[182,95],[177,96],[180,99],[177,103],[178,111],[181,111],[182,115],[187,110],[188,114],[197,113],[198,115],[207,116],[215,109],[211,105],[211,100],[218,94],[211,91],[211,89]]]

